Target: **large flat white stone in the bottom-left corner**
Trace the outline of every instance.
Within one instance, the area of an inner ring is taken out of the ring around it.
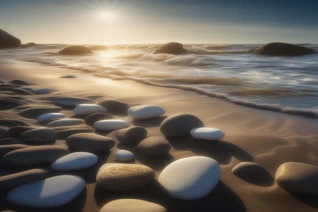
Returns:
[[[77,197],[84,187],[82,177],[59,175],[18,186],[8,193],[7,200],[24,207],[58,207]]]

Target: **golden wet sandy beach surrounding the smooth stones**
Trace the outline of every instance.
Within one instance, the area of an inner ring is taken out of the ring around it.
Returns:
[[[60,78],[73,75],[76,78]],[[85,189],[70,203],[50,209],[33,209],[12,205],[6,195],[10,189],[0,190],[0,211],[83,211],[97,212],[107,202],[136,198],[162,205],[170,212],[178,211],[318,211],[317,197],[290,193],[282,189],[274,180],[277,168],[285,162],[301,162],[318,165],[318,120],[296,115],[235,105],[216,98],[188,92],[176,88],[144,85],[123,80],[114,81],[99,78],[90,73],[43,66],[17,60],[0,62],[0,79],[5,81],[23,80],[33,89],[51,88],[56,92],[44,95],[21,95],[21,100],[29,105],[50,105],[53,97],[72,95],[93,100],[112,98],[131,106],[154,104],[163,107],[166,113],[157,118],[136,120],[127,114],[111,114],[129,122],[132,126],[142,126],[147,137],[165,137],[172,148],[160,157],[145,157],[136,151],[136,145],[123,145],[116,140],[114,132],[103,135],[115,139],[116,144],[109,152],[98,153],[99,160],[94,166],[70,172],[50,170],[48,176],[75,174],[86,181]],[[17,97],[17,94],[2,91],[0,97]],[[31,107],[31,106],[30,106]],[[75,117],[73,110],[62,108],[67,117]],[[196,139],[192,136],[170,138],[160,131],[163,120],[177,113],[193,114],[200,118],[205,127],[217,128],[225,133],[219,141]],[[43,127],[35,118],[19,115],[19,110],[0,111],[0,119],[14,118],[34,127]],[[10,126],[1,126],[9,129]],[[92,132],[94,133],[94,132]],[[0,143],[1,144],[1,143]],[[51,145],[66,146],[65,139],[56,139]],[[99,188],[96,173],[105,163],[118,163],[115,153],[118,149],[128,149],[135,154],[129,162],[142,164],[155,171],[155,180],[149,185],[129,192],[112,192]],[[179,200],[169,196],[157,182],[161,171],[173,161],[190,156],[206,156],[216,160],[221,167],[221,177],[217,186],[204,198]],[[271,177],[266,185],[261,181],[249,182],[232,174],[231,170],[240,162],[254,162],[268,171]],[[40,168],[49,168],[49,165]],[[0,175],[25,170],[13,168],[0,162]],[[295,170],[297,172],[297,170]]]

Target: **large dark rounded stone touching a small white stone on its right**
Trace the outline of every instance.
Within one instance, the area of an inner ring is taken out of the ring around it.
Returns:
[[[160,125],[162,134],[168,137],[183,137],[195,128],[204,127],[202,121],[195,115],[178,113],[166,118]]]

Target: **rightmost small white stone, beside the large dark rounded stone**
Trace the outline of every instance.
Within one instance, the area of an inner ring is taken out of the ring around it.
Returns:
[[[220,140],[225,136],[221,130],[208,127],[195,128],[190,131],[190,134],[195,138],[204,140]]]

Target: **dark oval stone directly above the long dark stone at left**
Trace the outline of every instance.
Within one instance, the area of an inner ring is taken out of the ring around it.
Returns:
[[[50,128],[37,128],[26,131],[20,135],[24,142],[50,142],[55,140],[56,132]]]

